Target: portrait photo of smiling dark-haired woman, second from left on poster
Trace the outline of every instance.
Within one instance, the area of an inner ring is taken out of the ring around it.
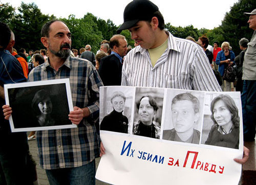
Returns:
[[[160,138],[164,89],[136,87],[133,134]]]

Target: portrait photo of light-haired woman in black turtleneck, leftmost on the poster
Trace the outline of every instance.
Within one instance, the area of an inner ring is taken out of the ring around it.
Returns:
[[[134,90],[125,87],[117,90],[112,87],[103,88],[103,91],[100,130],[128,133]]]

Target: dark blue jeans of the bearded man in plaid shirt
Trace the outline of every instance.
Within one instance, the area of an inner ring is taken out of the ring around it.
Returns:
[[[51,185],[93,185],[95,184],[95,160],[76,168],[46,170]]]

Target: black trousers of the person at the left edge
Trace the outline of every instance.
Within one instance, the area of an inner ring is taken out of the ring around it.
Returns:
[[[29,154],[27,134],[24,132],[6,134],[2,131],[0,131],[0,184],[33,184],[36,171]]]

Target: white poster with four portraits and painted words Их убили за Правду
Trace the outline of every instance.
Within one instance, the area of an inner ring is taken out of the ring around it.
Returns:
[[[233,158],[243,154],[240,92],[101,87],[100,128],[106,154],[97,169],[99,180],[239,182],[241,165]]]

